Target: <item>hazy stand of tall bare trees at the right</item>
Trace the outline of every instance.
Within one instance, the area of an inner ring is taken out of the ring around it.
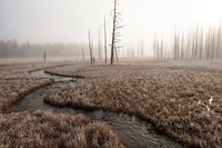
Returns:
[[[222,60],[221,26],[203,28],[196,26],[186,33],[175,29],[172,40],[153,40],[155,59]]]

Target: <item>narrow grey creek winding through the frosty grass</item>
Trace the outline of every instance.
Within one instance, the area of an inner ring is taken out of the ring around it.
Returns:
[[[31,73],[34,77],[54,79],[53,86],[75,85],[78,79],[71,77],[59,77],[47,75],[43,70]],[[125,114],[114,114],[109,111],[85,111],[81,109],[72,108],[57,108],[50,106],[43,101],[44,93],[51,89],[51,86],[40,88],[33,92],[27,95],[23,99],[16,102],[12,106],[13,111],[23,110],[52,110],[54,112],[63,114],[82,114],[90,117],[93,120],[104,121],[110,125],[115,132],[119,134],[122,142],[129,148],[180,148],[184,145],[179,144],[154,130],[154,127],[134,116],[128,116]]]

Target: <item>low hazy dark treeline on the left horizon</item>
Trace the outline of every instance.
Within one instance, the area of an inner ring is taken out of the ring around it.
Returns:
[[[30,43],[19,45],[17,40],[0,41],[0,58],[24,57],[82,57],[88,56],[88,46],[80,43]]]

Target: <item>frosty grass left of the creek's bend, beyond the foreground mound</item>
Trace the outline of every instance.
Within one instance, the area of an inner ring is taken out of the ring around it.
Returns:
[[[70,65],[69,62],[0,63],[0,112],[9,112],[11,105],[32,90],[50,85],[49,79],[34,78],[28,72]],[[72,63],[73,65],[73,63]]]

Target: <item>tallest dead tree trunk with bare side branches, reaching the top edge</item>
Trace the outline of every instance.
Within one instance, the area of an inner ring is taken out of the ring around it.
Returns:
[[[117,47],[117,43],[121,41],[120,39],[118,39],[118,37],[121,36],[119,30],[123,28],[123,26],[120,26],[121,13],[118,11],[117,6],[118,6],[118,0],[114,0],[111,58],[110,58],[111,65],[113,65],[113,61],[114,61],[114,50],[121,48],[121,47]]]

